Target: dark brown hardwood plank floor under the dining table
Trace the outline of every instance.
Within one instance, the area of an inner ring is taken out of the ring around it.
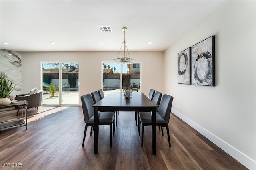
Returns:
[[[173,114],[169,123],[171,148],[166,128],[164,136],[157,130],[157,151],[152,154],[151,127],[144,129],[141,148],[134,112],[120,112],[112,148],[109,126],[100,125],[99,154],[95,155],[90,128],[82,147],[85,124],[81,107],[40,107],[39,111],[36,114],[36,109],[28,109],[28,130],[1,131],[1,170],[247,169]],[[0,118],[2,122],[17,116],[15,111],[1,112]]]

